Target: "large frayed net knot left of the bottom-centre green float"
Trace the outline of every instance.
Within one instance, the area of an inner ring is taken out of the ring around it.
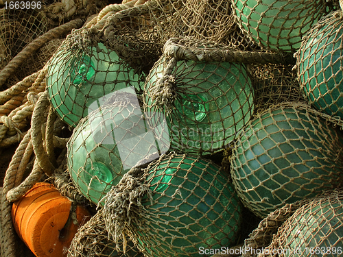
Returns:
[[[137,168],[132,168],[123,175],[119,184],[113,186],[107,193],[102,209],[108,239],[112,236],[118,251],[120,251],[122,240],[124,252],[126,251],[126,233],[129,231],[127,227],[133,224],[139,228],[143,227],[144,219],[142,218],[146,216],[142,204],[143,197],[146,196],[152,202],[152,191],[149,186],[143,184],[140,178],[132,174],[132,171],[137,171]]]

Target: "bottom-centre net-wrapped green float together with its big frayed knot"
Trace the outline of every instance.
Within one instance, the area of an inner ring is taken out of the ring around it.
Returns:
[[[106,195],[106,230],[130,236],[145,256],[194,256],[234,245],[241,207],[227,174],[215,164],[171,152],[132,169]]]

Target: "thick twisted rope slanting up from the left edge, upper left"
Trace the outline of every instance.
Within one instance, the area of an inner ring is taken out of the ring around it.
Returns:
[[[23,64],[32,53],[36,52],[40,47],[45,45],[52,39],[59,38],[63,34],[69,34],[72,29],[77,29],[83,24],[81,19],[70,21],[60,27],[49,30],[49,32],[34,39],[30,42],[20,53],[18,53],[8,64],[0,71],[0,87],[6,82],[6,80],[16,71],[16,69]]]

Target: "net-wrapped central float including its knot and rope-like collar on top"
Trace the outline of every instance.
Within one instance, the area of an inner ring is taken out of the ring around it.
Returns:
[[[189,38],[169,40],[147,76],[145,111],[166,116],[169,134],[160,136],[170,137],[171,149],[217,151],[250,119],[253,90],[246,66],[215,61],[227,49]]]

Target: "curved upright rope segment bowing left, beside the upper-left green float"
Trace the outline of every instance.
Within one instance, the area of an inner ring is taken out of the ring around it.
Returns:
[[[38,159],[39,166],[43,171],[50,176],[54,172],[55,167],[51,164],[49,157],[43,146],[42,125],[45,123],[47,117],[47,108],[49,108],[49,100],[47,99],[47,91],[45,91],[38,99],[34,112],[32,114],[31,129],[32,129],[32,145],[34,147],[34,154]]]

